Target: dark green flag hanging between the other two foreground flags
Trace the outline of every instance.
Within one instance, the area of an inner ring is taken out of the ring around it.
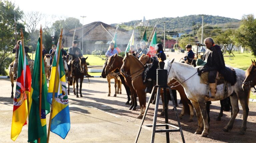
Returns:
[[[37,142],[40,138],[41,143],[47,141],[46,114],[50,112],[50,104],[46,97],[48,93],[47,82],[42,59],[42,87],[40,87],[40,38],[37,42],[34,70],[32,76],[31,93],[29,96],[29,119],[28,119],[28,142]],[[39,115],[39,89],[41,95],[41,118]]]

